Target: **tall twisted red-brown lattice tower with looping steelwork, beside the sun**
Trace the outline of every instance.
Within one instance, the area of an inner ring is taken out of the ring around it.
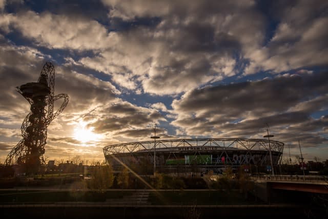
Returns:
[[[25,117],[22,127],[23,139],[10,151],[5,164],[24,165],[27,172],[37,172],[45,165],[43,154],[47,140],[47,127],[67,106],[67,94],[54,95],[55,68],[46,63],[37,82],[27,83],[17,87],[31,104],[31,112]],[[64,99],[63,104],[54,112],[54,102]]]

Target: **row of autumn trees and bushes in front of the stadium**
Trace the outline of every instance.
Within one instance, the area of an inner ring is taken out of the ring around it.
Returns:
[[[251,183],[249,174],[243,167],[236,173],[231,168],[220,177],[210,171],[203,177],[172,176],[165,173],[155,175],[137,175],[127,168],[113,172],[111,165],[93,166],[90,179],[86,180],[86,188],[96,190],[106,189],[242,189],[249,190]]]

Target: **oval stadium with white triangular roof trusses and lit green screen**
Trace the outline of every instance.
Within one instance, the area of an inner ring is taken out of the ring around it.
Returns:
[[[221,172],[243,165],[245,171],[270,171],[282,158],[283,143],[247,138],[196,138],[156,140],[106,146],[106,161],[139,174]],[[272,165],[271,165],[272,164]]]

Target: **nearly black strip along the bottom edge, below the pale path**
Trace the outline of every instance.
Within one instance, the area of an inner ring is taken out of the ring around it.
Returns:
[[[314,212],[293,205],[106,206],[89,203],[7,205],[1,206],[0,212],[2,218],[316,218]]]

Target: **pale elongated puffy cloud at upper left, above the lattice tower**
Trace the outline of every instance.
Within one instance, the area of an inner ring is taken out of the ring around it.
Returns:
[[[23,11],[4,14],[2,20],[2,29],[9,31],[12,27],[36,45],[48,48],[100,50],[116,43],[115,33],[108,33],[98,22],[81,16]]]

